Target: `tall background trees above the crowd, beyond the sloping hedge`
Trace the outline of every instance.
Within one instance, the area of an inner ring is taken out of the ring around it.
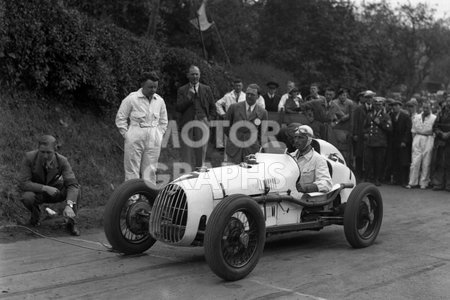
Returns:
[[[202,0],[66,2],[140,36],[151,35],[154,21],[155,40],[201,54],[189,20]],[[450,83],[449,22],[436,18],[426,1],[395,8],[386,1],[354,2],[209,0],[207,15],[216,25],[203,33],[208,56],[225,64],[225,48],[233,65],[264,61],[294,73],[305,87],[319,82],[384,94],[403,86],[412,94],[425,81]]]

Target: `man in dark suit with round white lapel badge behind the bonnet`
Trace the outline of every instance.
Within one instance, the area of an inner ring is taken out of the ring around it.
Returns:
[[[232,104],[227,111],[226,119],[230,121],[230,127],[226,128],[228,142],[225,151],[233,163],[242,162],[247,155],[258,152],[261,147],[267,111],[256,105],[259,96],[259,86],[250,84],[245,92],[245,101]],[[245,125],[240,124],[242,121]]]

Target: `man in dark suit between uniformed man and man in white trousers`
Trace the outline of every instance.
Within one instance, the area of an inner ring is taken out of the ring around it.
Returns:
[[[411,143],[411,119],[408,114],[401,110],[402,102],[394,100],[391,102],[392,133],[391,133],[391,162],[394,183],[405,186],[408,184],[409,164],[411,155],[407,146]]]

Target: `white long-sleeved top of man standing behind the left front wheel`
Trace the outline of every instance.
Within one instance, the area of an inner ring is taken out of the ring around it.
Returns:
[[[128,118],[130,124],[128,124]],[[122,136],[125,136],[128,128],[132,125],[156,127],[164,134],[167,124],[167,110],[164,99],[158,94],[153,94],[149,101],[142,94],[142,88],[123,99],[116,115],[116,126]]]

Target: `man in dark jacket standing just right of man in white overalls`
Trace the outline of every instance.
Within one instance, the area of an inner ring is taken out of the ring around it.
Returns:
[[[195,169],[205,163],[209,122],[216,118],[216,105],[211,88],[199,82],[200,69],[197,66],[189,68],[187,77],[189,83],[178,89],[175,108],[181,115],[182,158]]]

